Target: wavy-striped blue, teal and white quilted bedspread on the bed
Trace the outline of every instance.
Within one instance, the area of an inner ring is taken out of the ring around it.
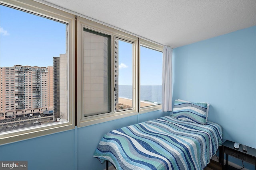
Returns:
[[[117,170],[202,170],[220,145],[220,125],[166,116],[106,133],[94,157]]]

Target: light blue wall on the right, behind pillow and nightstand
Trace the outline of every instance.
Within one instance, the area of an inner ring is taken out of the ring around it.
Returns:
[[[256,26],[176,48],[172,64],[173,99],[210,103],[224,141],[256,148]]]

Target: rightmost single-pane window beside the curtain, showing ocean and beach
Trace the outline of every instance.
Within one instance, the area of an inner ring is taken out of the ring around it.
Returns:
[[[140,39],[139,54],[139,113],[162,108],[163,47]]]

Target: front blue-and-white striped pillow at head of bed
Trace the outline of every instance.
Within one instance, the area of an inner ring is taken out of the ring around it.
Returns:
[[[192,103],[175,100],[172,117],[194,123],[206,124],[206,103]]]

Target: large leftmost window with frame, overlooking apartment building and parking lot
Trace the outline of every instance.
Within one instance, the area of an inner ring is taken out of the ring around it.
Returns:
[[[22,6],[22,9],[13,6]],[[35,10],[32,6],[38,3],[10,1],[0,4],[0,68],[6,74],[14,70],[11,84],[15,84],[11,92],[15,107],[11,111],[4,101],[9,98],[5,97],[9,93],[5,88],[9,83],[1,84],[4,89],[1,95],[5,98],[0,111],[1,143],[74,128],[71,114],[74,78],[70,76],[74,72],[70,37],[74,16],[48,6],[44,6],[44,10]],[[54,58],[58,58],[58,62],[54,63]],[[27,73],[32,75],[32,80],[25,78]],[[8,77],[6,74],[1,74],[3,80]],[[44,78],[47,78],[45,83]],[[30,98],[25,81],[31,84]],[[46,88],[42,88],[44,84]],[[44,93],[48,98],[44,98]],[[27,102],[32,105],[26,105]],[[35,121],[40,123],[33,123]]]

